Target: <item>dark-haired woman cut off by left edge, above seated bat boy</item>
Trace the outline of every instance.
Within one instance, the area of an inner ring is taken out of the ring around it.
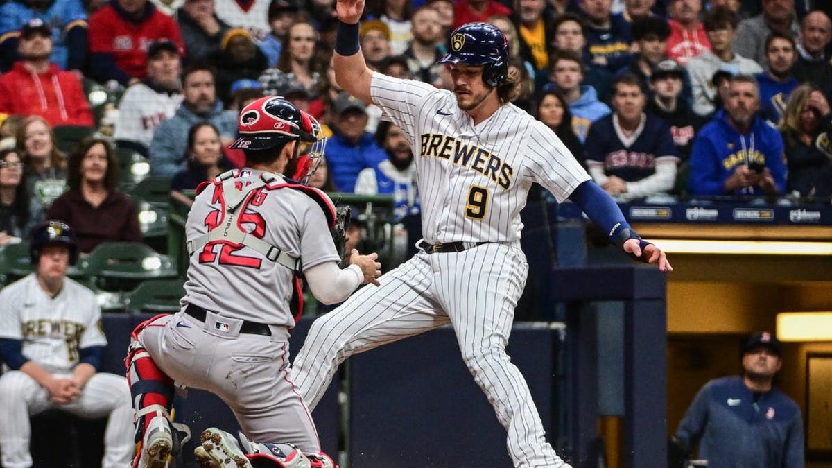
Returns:
[[[29,202],[20,157],[13,149],[0,150],[0,246],[27,239],[41,221],[41,214],[29,212]]]

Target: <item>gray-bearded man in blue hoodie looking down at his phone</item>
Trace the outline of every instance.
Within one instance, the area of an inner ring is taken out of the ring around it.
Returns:
[[[776,195],[785,192],[783,139],[756,112],[754,77],[730,77],[725,109],[702,127],[691,151],[691,195]]]

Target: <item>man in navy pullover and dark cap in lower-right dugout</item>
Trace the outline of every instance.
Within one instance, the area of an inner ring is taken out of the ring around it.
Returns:
[[[780,371],[780,343],[768,331],[755,333],[742,347],[742,376],[706,383],[673,438],[713,468],[803,468],[800,407],[774,386]]]

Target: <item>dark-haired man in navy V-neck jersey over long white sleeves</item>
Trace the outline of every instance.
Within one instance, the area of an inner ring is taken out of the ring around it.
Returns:
[[[671,129],[644,112],[638,77],[624,73],[612,82],[612,115],[592,124],[584,147],[592,179],[611,195],[666,193],[676,181],[678,152]]]

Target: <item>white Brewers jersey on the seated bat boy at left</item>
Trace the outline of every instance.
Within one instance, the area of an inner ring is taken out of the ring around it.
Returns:
[[[63,281],[55,297],[34,273],[0,291],[0,338],[21,340],[23,356],[53,373],[71,371],[82,348],[106,346],[96,296],[70,278]]]

